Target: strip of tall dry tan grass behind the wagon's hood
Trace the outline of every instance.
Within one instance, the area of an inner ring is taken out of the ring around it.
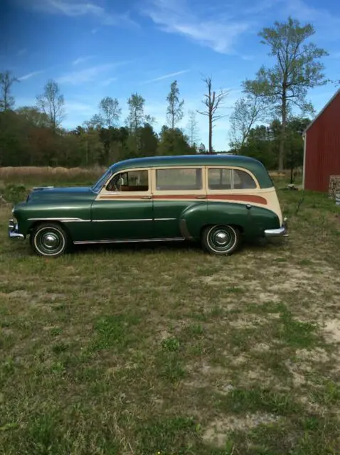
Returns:
[[[102,173],[103,166],[91,168],[63,168],[50,166],[0,167],[0,182],[3,184],[41,185],[55,183],[95,183]]]

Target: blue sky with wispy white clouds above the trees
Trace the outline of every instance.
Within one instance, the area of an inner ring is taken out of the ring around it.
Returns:
[[[213,146],[228,149],[228,115],[241,82],[271,64],[257,32],[291,15],[316,28],[312,41],[324,47],[326,77],[340,79],[339,0],[2,0],[0,70],[11,70],[16,107],[34,105],[49,78],[65,97],[66,128],[97,112],[104,96],[117,97],[122,122],[127,98],[139,92],[145,110],[165,123],[166,95],[179,82],[184,111],[201,109],[202,75],[229,90],[225,118]],[[326,85],[310,92],[317,111],[334,94]],[[199,137],[208,143],[206,117],[197,114]],[[181,122],[186,127],[187,116]]]

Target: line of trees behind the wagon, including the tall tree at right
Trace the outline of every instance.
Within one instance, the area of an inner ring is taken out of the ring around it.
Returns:
[[[307,92],[329,82],[321,61],[326,50],[309,42],[314,33],[311,24],[301,25],[290,17],[260,31],[274,64],[262,65],[254,79],[243,81],[243,96],[229,117],[229,151],[254,156],[280,171],[301,163],[301,133],[314,114]],[[14,109],[11,88],[17,82],[9,71],[0,73],[0,166],[108,165],[136,156],[215,153],[213,127],[227,117],[221,107],[229,92],[214,90],[212,78],[204,76],[203,109],[188,112],[186,129],[179,128],[184,100],[174,80],[166,97],[166,125],[159,134],[155,119],[146,112],[146,100],[137,92],[127,100],[124,122],[119,101],[107,96],[100,100],[97,114],[66,130],[65,100],[57,82],[48,80],[35,106]],[[196,114],[207,118],[208,149],[198,145]]]

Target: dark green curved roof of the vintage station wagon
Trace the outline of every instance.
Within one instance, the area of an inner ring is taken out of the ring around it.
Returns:
[[[272,187],[272,180],[265,166],[257,159],[250,156],[231,154],[196,154],[196,155],[171,155],[171,156],[144,156],[118,161],[112,164],[113,172],[129,168],[149,168],[159,166],[233,166],[246,168],[251,171],[261,188]]]

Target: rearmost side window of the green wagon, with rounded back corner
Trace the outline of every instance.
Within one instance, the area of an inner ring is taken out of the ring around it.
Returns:
[[[208,188],[210,190],[253,189],[256,183],[248,172],[240,169],[208,169]]]

